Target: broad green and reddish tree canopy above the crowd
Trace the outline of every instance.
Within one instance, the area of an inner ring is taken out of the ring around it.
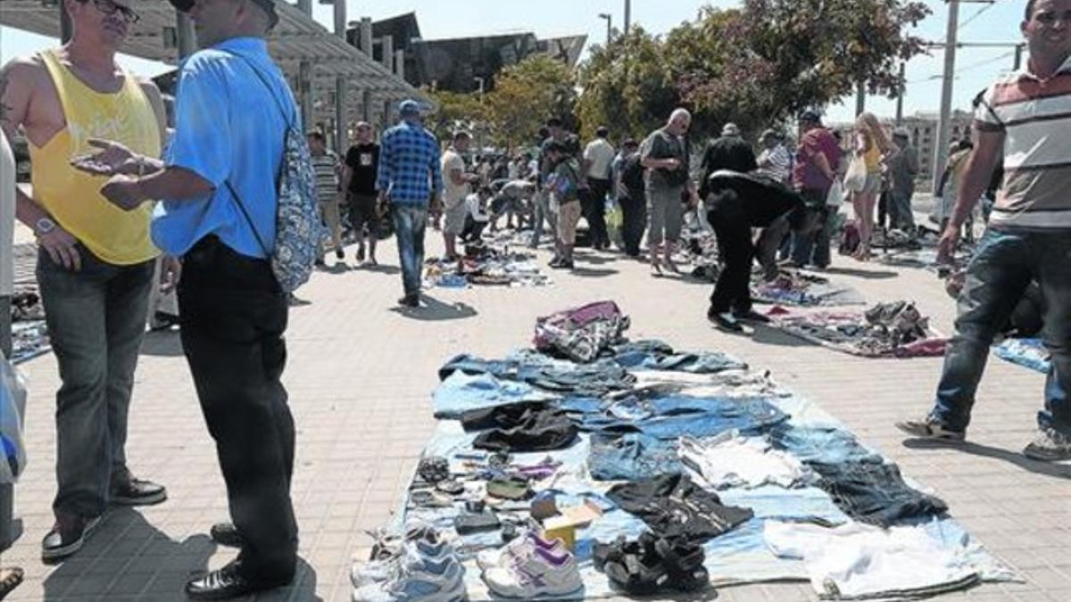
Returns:
[[[757,133],[851,93],[900,89],[899,61],[923,51],[908,33],[930,13],[914,0],[744,0],[705,7],[664,37],[642,30],[595,48],[580,69],[585,130],[640,135],[673,107],[693,114],[693,137],[726,121]]]

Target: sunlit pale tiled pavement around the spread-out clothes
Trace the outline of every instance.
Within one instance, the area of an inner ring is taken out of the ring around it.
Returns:
[[[441,242],[429,231],[434,252]],[[350,250],[352,251],[352,250]],[[969,531],[1020,569],[1025,584],[986,585],[949,600],[1071,600],[1071,466],[1017,454],[1034,432],[1042,378],[990,363],[979,394],[972,442],[962,448],[905,446],[892,422],[929,405],[940,360],[865,360],[769,331],[730,336],[704,319],[709,287],[654,281],[645,266],[580,252],[579,269],[544,289],[433,290],[429,307],[393,310],[396,255],[381,250],[378,271],[321,272],[301,290],[310,304],[291,313],[286,383],[298,423],[293,499],[301,527],[299,578],[257,600],[349,599],[347,573],[364,529],[387,523],[433,426],[436,368],[458,351],[498,356],[525,345],[536,316],[594,299],[614,299],[632,316],[634,337],[663,337],[683,349],[723,349],[846,421],[868,443],[933,487]],[[352,258],[350,257],[352,262]],[[920,270],[838,259],[831,276],[871,300],[909,298],[951,331],[953,304]],[[216,568],[233,552],[206,532],[226,518],[223,481],[194,396],[177,334],[150,334],[137,372],[129,456],[134,470],[166,483],[170,499],[112,512],[74,558],[42,565],[39,542],[51,523],[55,492],[55,360],[24,364],[29,377],[30,465],[16,487],[22,537],[4,565],[27,569],[10,600],[182,600],[192,572]],[[723,588],[722,600],[813,600],[808,584]]]

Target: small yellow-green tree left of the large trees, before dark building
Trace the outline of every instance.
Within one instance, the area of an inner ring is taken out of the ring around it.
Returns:
[[[509,66],[496,77],[495,90],[484,99],[484,119],[502,147],[534,139],[549,117],[567,123],[576,105],[575,81],[569,66],[537,55]]]

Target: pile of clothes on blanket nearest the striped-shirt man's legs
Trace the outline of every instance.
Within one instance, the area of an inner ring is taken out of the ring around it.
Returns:
[[[825,347],[869,358],[945,353],[946,340],[914,303],[878,303],[866,312],[794,313],[775,307],[773,325]]]

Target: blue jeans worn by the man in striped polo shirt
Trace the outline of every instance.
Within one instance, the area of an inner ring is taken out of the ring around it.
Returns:
[[[1052,355],[1045,378],[1040,427],[1071,434],[1071,232],[989,229],[967,266],[960,292],[955,337],[945,356],[931,416],[946,427],[963,431],[970,422],[975,392],[985,370],[990,345],[1008,322],[1031,280],[1043,299],[1042,341]]]

